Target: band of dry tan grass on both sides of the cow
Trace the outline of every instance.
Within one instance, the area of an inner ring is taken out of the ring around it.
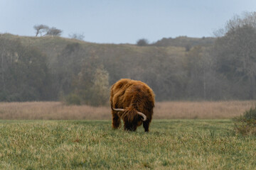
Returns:
[[[169,101],[156,103],[154,119],[234,118],[256,101]],[[110,120],[110,107],[65,106],[60,102],[0,103],[0,119],[5,120]]]

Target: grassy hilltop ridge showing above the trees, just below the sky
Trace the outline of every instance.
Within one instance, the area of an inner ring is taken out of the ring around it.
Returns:
[[[81,47],[85,48],[86,51],[94,51],[100,59],[113,56],[122,56],[122,55],[147,55],[147,53],[151,52],[159,52],[164,51],[169,55],[183,56],[185,51],[186,42],[191,45],[203,45],[203,42],[200,38],[186,38],[179,37],[174,39],[171,42],[171,38],[163,38],[162,40],[157,41],[152,44],[156,47],[138,47],[137,45],[132,44],[97,44],[92,42],[85,42],[76,39],[70,38],[62,38],[62,37],[27,37],[27,36],[18,36],[11,34],[3,34],[4,38],[8,38],[10,40],[19,40],[21,43],[28,47],[36,47],[38,50],[43,52],[48,57],[48,62],[52,65],[56,57],[62,52],[67,45],[78,43]],[[169,44],[165,42],[168,40]]]

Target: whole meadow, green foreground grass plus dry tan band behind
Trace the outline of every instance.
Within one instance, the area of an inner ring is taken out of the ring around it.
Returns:
[[[231,120],[254,106],[156,103],[145,133],[112,130],[107,106],[0,103],[0,169],[256,169],[256,137]]]

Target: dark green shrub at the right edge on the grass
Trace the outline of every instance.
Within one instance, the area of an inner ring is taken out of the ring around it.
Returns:
[[[234,118],[235,131],[242,135],[256,135],[256,107]]]

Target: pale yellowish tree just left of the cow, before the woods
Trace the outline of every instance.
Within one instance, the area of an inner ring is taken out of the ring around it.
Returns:
[[[73,90],[66,101],[69,104],[105,105],[110,91],[108,72],[93,51],[80,64],[80,72],[73,79]]]

